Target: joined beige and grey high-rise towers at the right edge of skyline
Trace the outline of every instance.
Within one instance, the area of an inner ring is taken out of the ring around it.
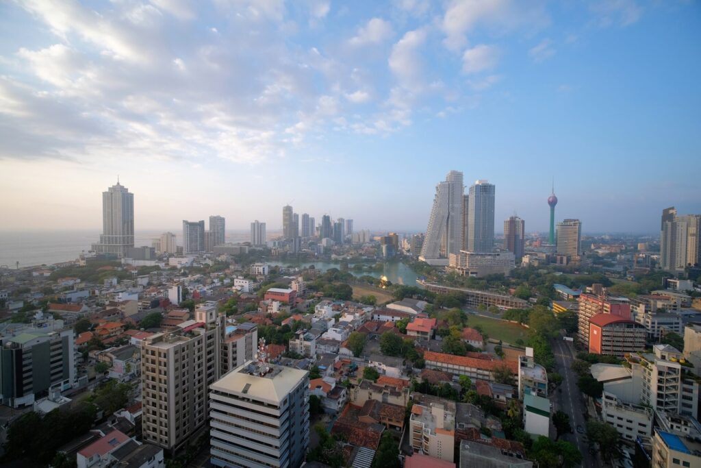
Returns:
[[[660,267],[668,272],[683,272],[688,266],[701,265],[701,215],[676,215],[676,209],[662,210],[660,231]]]

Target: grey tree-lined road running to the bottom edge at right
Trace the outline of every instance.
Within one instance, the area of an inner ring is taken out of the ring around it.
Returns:
[[[571,370],[575,354],[571,342],[562,339],[552,340],[552,352],[557,361],[557,372],[563,380],[559,389],[552,395],[553,412],[564,411],[570,417],[570,424],[574,434],[564,434],[562,439],[574,443],[582,453],[582,466],[584,468],[599,467],[598,460],[589,453],[589,443],[585,441],[585,434],[577,433],[577,426],[586,428],[584,413],[587,410],[584,396],[577,387],[577,375]],[[559,390],[562,389],[562,393]]]

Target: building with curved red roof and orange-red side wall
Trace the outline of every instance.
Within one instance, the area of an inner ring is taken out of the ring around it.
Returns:
[[[645,349],[647,330],[640,323],[613,314],[589,319],[589,352],[623,357]]]

